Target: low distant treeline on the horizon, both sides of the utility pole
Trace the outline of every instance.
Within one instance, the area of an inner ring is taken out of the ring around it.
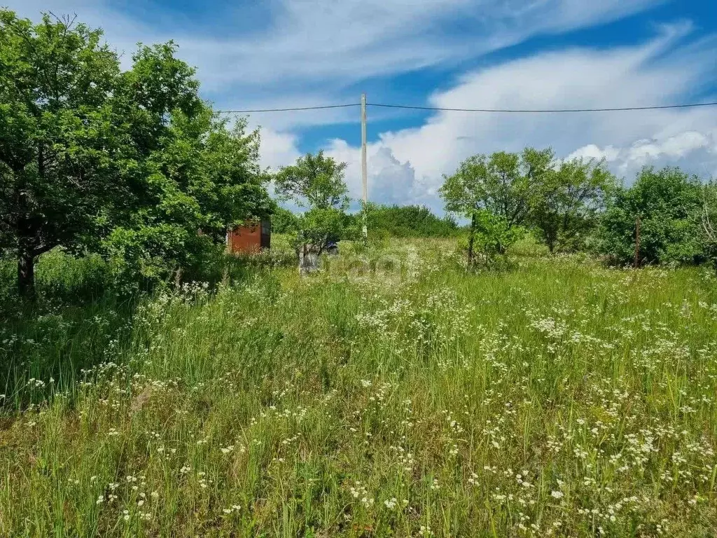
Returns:
[[[428,207],[419,205],[369,204],[367,225],[372,237],[453,237],[460,232],[451,217],[437,217]],[[360,214],[346,215],[348,230],[360,228]],[[298,216],[279,208],[272,215],[272,231],[292,233],[298,229]]]

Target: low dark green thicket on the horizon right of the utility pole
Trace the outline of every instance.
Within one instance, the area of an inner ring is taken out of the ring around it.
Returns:
[[[439,218],[418,205],[369,204],[369,235],[386,237],[451,237],[459,232],[451,217]],[[361,214],[359,214],[359,218]]]

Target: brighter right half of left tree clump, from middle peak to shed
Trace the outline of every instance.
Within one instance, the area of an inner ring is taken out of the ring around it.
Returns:
[[[173,43],[141,47],[123,73],[121,106],[131,121],[137,194],[114,219],[103,247],[119,274],[156,280],[172,271],[196,273],[221,249],[227,227],[269,214],[267,174],[258,164],[258,131],[247,133],[212,113],[198,95],[194,70]],[[201,234],[198,234],[201,230]],[[201,276],[201,275],[197,275]]]

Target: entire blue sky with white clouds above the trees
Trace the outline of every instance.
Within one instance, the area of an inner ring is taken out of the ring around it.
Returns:
[[[217,108],[400,103],[599,108],[717,100],[717,6],[654,0],[0,0],[21,16],[76,13],[128,65],[174,39]],[[262,161],[324,148],[360,193],[359,110],[254,114]],[[369,191],[440,208],[442,174],[498,149],[604,158],[717,176],[717,107],[576,115],[369,108]]]

